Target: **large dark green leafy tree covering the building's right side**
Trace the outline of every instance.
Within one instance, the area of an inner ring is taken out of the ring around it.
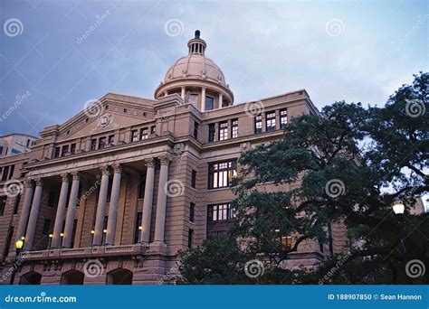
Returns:
[[[232,201],[232,239],[242,249],[231,263],[262,257],[274,266],[260,278],[266,283],[428,283],[428,272],[418,278],[405,272],[413,259],[429,267],[428,218],[408,213],[429,189],[428,85],[429,73],[420,72],[383,108],[335,102],[319,115],[293,118],[281,140],[244,153]],[[396,198],[407,210],[402,220],[392,211]],[[278,267],[304,240],[329,241],[327,229],[338,221],[348,228],[340,259],[299,271]],[[279,239],[287,235],[297,239],[284,249]]]

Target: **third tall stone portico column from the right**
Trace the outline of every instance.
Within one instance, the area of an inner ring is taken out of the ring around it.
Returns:
[[[110,193],[110,205],[109,205],[109,219],[108,228],[106,234],[106,245],[115,244],[116,234],[116,219],[118,217],[119,208],[119,189],[120,189],[120,177],[122,175],[122,166],[120,164],[113,165],[113,182]]]

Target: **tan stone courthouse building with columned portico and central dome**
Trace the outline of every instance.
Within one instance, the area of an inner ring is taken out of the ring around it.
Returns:
[[[4,284],[17,240],[14,284],[168,283],[178,250],[233,224],[240,155],[281,138],[291,117],[318,113],[304,89],[234,103],[198,31],[187,47],[154,99],[108,93],[0,159]],[[336,232],[330,246],[302,243],[291,266],[337,250]]]

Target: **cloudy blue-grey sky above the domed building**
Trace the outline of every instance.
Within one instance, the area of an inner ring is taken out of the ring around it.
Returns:
[[[318,108],[383,105],[428,71],[425,1],[2,0],[0,14],[0,135],[37,136],[107,92],[153,98],[195,29],[235,104],[307,89]]]

